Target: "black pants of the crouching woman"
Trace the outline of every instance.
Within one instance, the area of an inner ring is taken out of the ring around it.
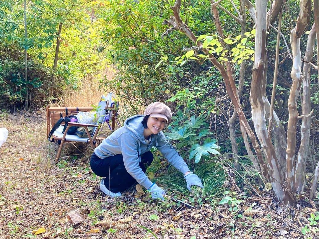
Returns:
[[[139,166],[146,172],[146,168],[153,161],[151,151],[141,155]],[[100,177],[105,177],[104,185],[111,192],[123,192],[136,184],[136,180],[126,171],[122,154],[100,159],[93,153],[90,161],[92,171]]]

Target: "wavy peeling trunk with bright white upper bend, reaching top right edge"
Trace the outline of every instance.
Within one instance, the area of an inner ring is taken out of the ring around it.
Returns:
[[[296,150],[296,127],[297,127],[297,99],[301,85],[301,52],[300,36],[309,23],[311,12],[311,0],[300,0],[300,12],[296,26],[290,32],[290,43],[293,52],[293,66],[290,76],[293,84],[288,98],[288,127],[287,127],[287,155],[286,155],[286,196],[284,203],[293,205],[291,195],[294,194],[295,178],[295,150]]]

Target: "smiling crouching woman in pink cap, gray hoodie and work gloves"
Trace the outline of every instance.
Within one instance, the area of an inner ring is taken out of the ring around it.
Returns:
[[[100,182],[102,192],[111,197],[120,197],[121,192],[137,182],[151,192],[152,199],[164,200],[164,190],[145,175],[147,166],[153,161],[150,151],[153,146],[184,175],[189,190],[191,185],[204,187],[162,132],[171,119],[170,108],[154,102],[146,107],[144,115],[125,120],[123,127],[94,149],[90,164],[96,175],[104,177]]]

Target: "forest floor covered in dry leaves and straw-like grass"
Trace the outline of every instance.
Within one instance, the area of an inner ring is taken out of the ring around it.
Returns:
[[[286,209],[256,191],[229,204],[186,199],[196,207],[187,208],[148,201],[135,188],[113,199],[89,167],[91,148],[67,143],[54,163],[44,112],[0,112],[0,127],[9,130],[0,148],[0,238],[319,238],[306,200]]]

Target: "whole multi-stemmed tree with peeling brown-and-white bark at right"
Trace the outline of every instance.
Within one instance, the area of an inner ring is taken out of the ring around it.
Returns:
[[[219,41],[221,43],[221,48],[219,52],[224,52],[224,55],[227,55],[227,50],[225,48],[226,40],[223,37],[223,31],[221,25],[219,23],[219,15],[216,10],[216,5],[214,1],[212,2],[212,9],[214,11],[215,16],[215,24],[219,33]],[[243,2],[241,1],[241,4]],[[271,9],[267,12],[267,1],[266,0],[257,0],[256,1],[256,38],[255,38],[255,54],[254,54],[254,65],[253,65],[253,73],[252,73],[252,82],[250,89],[250,104],[252,108],[252,118],[254,122],[254,129],[256,135],[258,137],[260,146],[263,151],[259,148],[259,143],[255,138],[255,133],[250,129],[249,124],[247,123],[246,117],[241,110],[241,105],[238,97],[238,91],[234,84],[233,79],[233,68],[231,65],[231,55],[222,60],[224,63],[219,63],[216,55],[211,54],[212,49],[216,52],[217,48],[210,47],[213,46],[210,42],[211,38],[205,36],[200,36],[197,38],[192,31],[189,30],[188,26],[182,21],[180,17],[180,6],[181,2],[179,0],[175,1],[174,6],[172,7],[174,17],[170,18],[170,20],[165,21],[164,24],[171,26],[170,29],[163,34],[163,36],[167,36],[174,30],[179,30],[182,33],[186,34],[189,39],[191,39],[195,44],[198,50],[202,50],[206,55],[208,55],[208,59],[213,63],[213,65],[219,70],[221,75],[223,76],[227,93],[229,97],[232,99],[232,103],[235,106],[235,110],[239,115],[240,124],[241,124],[241,132],[243,137],[247,132],[250,140],[252,142],[253,147],[255,148],[257,161],[253,161],[254,165],[256,162],[261,166],[261,175],[264,179],[267,179],[271,182],[276,198],[281,201],[284,200],[286,205],[293,205],[295,203],[294,197],[299,190],[303,189],[304,181],[300,181],[300,177],[295,177],[295,173],[298,169],[300,171],[300,175],[305,175],[303,169],[301,169],[302,160],[306,159],[306,154],[302,154],[303,156],[297,158],[297,163],[295,162],[295,152],[294,149],[296,147],[296,121],[299,118],[309,118],[310,114],[298,116],[297,112],[297,98],[300,91],[301,85],[301,53],[300,53],[300,36],[303,33],[305,27],[309,22],[310,10],[311,10],[311,1],[300,1],[300,14],[297,18],[296,26],[291,31],[291,45],[293,49],[293,68],[291,72],[291,76],[293,78],[293,84],[290,90],[289,95],[289,117],[288,117],[288,129],[287,129],[287,143],[286,143],[286,151],[287,154],[284,156],[282,146],[279,145],[280,142],[283,142],[285,139],[285,133],[283,131],[283,127],[281,126],[276,113],[272,110],[273,106],[269,103],[266,97],[266,74],[267,74],[267,58],[266,58],[266,50],[267,50],[267,31],[269,31],[269,27],[276,19],[277,15],[282,8],[283,1],[274,1],[271,5]],[[255,14],[253,5],[246,0],[246,7],[248,7],[249,12]],[[254,17],[252,17],[255,19]],[[204,43],[200,40],[205,39]],[[210,42],[209,42],[210,41]],[[230,41],[233,43],[232,41]],[[228,39],[227,39],[227,43]],[[216,44],[216,43],[214,43]],[[311,43],[309,42],[311,45]],[[211,50],[209,50],[211,49]],[[220,58],[219,58],[220,59]],[[304,72],[306,68],[304,69]],[[305,78],[306,81],[306,78]],[[306,83],[306,82],[305,82]],[[307,91],[307,89],[305,89]],[[307,96],[303,98],[303,100],[307,101]],[[309,101],[309,100],[308,100]],[[308,102],[309,104],[309,102]],[[306,106],[307,107],[307,106]],[[271,111],[271,112],[270,112]],[[308,111],[305,111],[308,112]],[[271,113],[271,114],[270,114]],[[272,116],[271,116],[272,115]],[[266,116],[269,118],[271,116],[271,120],[273,120],[274,126],[270,124],[270,128],[267,128]],[[274,129],[275,128],[275,129]],[[277,128],[277,129],[276,129]],[[273,137],[275,138],[274,144],[271,140],[271,136],[269,131],[274,129]],[[309,140],[307,137],[303,137],[303,145],[307,145],[306,141]],[[306,143],[306,144],[305,144]],[[304,146],[303,146],[304,147]],[[301,150],[303,151],[304,149]],[[307,151],[307,150],[306,150]],[[262,153],[263,152],[263,153]],[[264,159],[265,161],[264,161]],[[301,160],[301,158],[303,158]],[[266,164],[265,164],[266,162]],[[257,167],[256,167],[257,168]],[[283,170],[286,169],[286,170]],[[302,176],[301,176],[302,177]],[[297,191],[298,189],[298,191]]]

